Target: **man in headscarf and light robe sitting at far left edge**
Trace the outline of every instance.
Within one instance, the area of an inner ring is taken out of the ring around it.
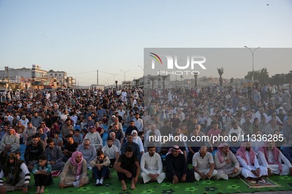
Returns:
[[[0,150],[5,150],[6,152],[15,152],[19,148],[19,135],[13,128],[8,128],[6,130],[6,134],[4,134],[1,139]]]

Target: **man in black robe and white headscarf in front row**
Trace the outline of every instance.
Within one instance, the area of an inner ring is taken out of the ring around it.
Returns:
[[[169,182],[176,184],[178,182],[194,182],[194,171],[188,168],[185,156],[177,145],[167,153],[167,172],[166,177]]]

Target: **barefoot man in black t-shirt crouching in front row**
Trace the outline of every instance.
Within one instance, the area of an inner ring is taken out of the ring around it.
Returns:
[[[132,181],[131,189],[136,189],[135,185],[138,181],[140,165],[131,147],[125,148],[125,153],[119,157],[118,162],[114,165],[114,169],[118,172],[119,181],[122,183],[122,191],[125,191],[127,188],[125,185],[126,178]]]

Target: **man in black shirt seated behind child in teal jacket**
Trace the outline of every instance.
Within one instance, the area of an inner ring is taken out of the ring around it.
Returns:
[[[43,155],[43,147],[38,144],[38,141],[39,137],[34,135],[32,144],[27,145],[25,148],[24,159],[30,171],[34,168],[34,165],[38,163],[39,156]]]

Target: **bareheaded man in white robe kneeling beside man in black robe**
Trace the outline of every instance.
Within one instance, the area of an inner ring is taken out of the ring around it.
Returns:
[[[141,157],[141,174],[143,182],[157,181],[162,183],[166,175],[162,172],[162,161],[159,154],[155,153],[155,146],[150,144],[147,147],[148,153],[145,153]],[[142,181],[141,181],[142,182]]]

